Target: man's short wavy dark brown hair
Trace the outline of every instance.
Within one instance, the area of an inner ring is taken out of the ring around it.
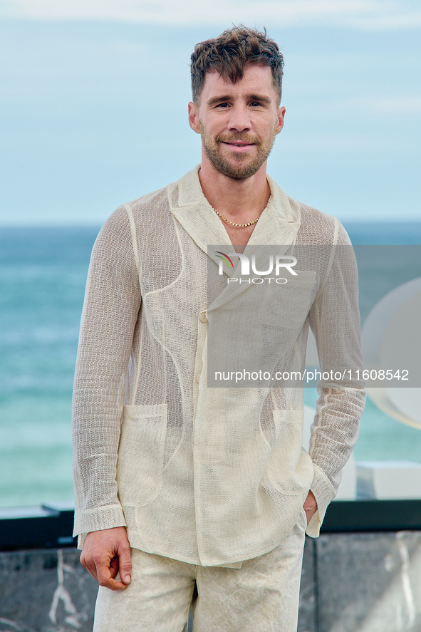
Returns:
[[[234,26],[217,38],[196,44],[191,60],[192,97],[197,105],[207,72],[216,71],[236,83],[243,77],[247,63],[261,63],[271,68],[274,88],[281,103],[284,57],[278,44],[266,36],[266,29],[261,33],[242,24]]]

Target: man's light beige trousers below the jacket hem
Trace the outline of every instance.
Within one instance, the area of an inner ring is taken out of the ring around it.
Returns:
[[[93,632],[185,632],[191,605],[193,632],[296,632],[304,531],[301,512],[276,549],[241,569],[132,549],[131,584],[118,592],[100,587]]]

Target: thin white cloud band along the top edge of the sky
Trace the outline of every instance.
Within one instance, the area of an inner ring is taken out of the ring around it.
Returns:
[[[0,0],[0,17],[102,20],[162,26],[238,24],[405,29],[421,26],[417,0]]]

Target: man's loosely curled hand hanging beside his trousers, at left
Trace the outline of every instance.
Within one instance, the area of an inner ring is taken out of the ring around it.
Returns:
[[[83,544],[80,564],[110,590],[122,590],[130,584],[132,562],[130,544],[125,527],[103,529],[88,533]],[[122,581],[115,581],[120,572]]]

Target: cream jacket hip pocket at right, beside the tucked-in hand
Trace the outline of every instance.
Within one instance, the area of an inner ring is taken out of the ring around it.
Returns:
[[[276,445],[266,474],[279,492],[305,494],[313,481],[313,462],[303,442],[303,410],[274,410]]]

